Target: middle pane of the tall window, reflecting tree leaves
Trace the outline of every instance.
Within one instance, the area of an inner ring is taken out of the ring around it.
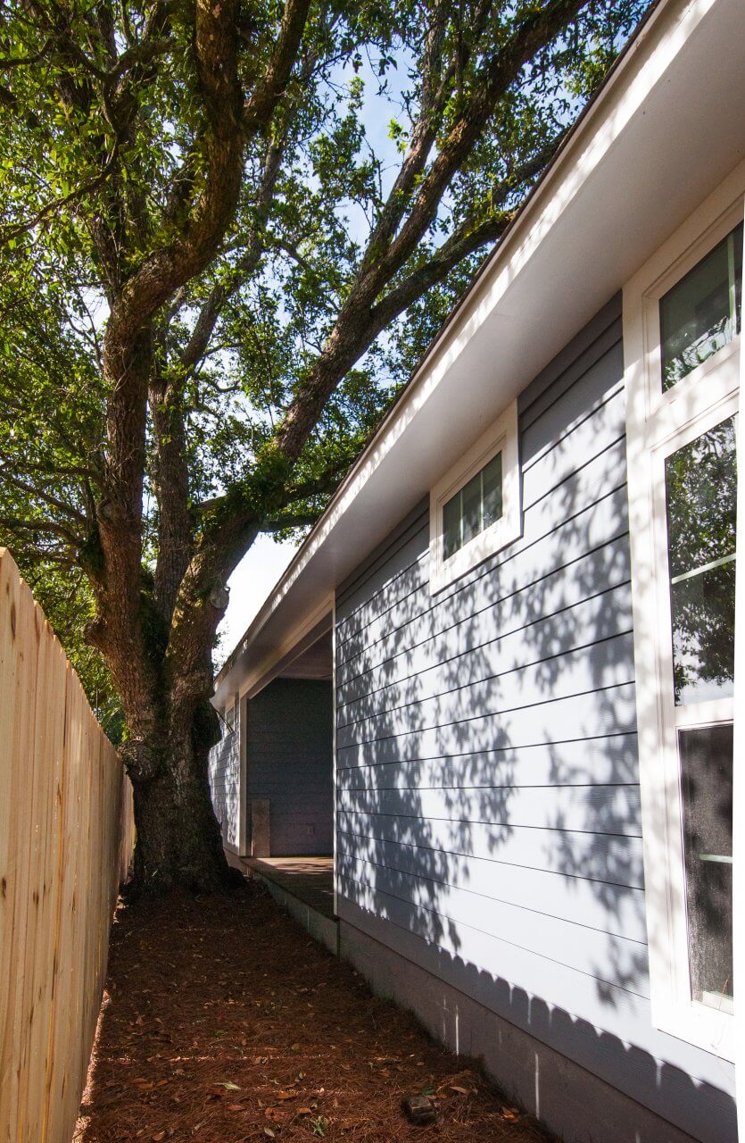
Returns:
[[[665,461],[676,705],[732,694],[735,432],[729,417]]]

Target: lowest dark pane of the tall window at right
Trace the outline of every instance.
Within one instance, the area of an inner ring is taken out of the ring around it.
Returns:
[[[679,734],[688,956],[694,1000],[727,1008],[732,989],[732,726]]]

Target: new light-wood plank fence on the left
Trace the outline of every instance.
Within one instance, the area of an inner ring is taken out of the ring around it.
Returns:
[[[0,549],[0,1143],[70,1143],[131,791],[78,676]]]

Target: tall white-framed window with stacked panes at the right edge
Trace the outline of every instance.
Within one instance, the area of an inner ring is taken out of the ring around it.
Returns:
[[[652,1013],[729,1058],[742,218],[730,182],[624,291]]]

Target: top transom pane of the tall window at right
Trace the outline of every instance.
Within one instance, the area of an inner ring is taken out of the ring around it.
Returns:
[[[743,224],[728,234],[659,302],[663,389],[739,333],[743,291]]]

